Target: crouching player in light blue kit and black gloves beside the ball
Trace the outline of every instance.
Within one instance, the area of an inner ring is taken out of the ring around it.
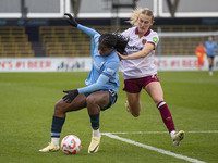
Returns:
[[[110,108],[117,101],[119,88],[119,65],[120,59],[117,51],[124,52],[128,40],[118,34],[102,34],[85,27],[69,16],[69,23],[86,33],[95,40],[93,55],[93,67],[86,79],[87,87],[63,91],[66,95],[60,99],[56,106],[51,125],[51,142],[40,149],[40,152],[58,151],[62,126],[65,121],[65,113],[87,108],[93,127],[92,141],[88,153],[98,151],[100,143],[99,113]]]

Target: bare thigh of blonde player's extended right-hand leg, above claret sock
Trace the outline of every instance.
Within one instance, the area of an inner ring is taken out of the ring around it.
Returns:
[[[164,92],[159,82],[152,82],[146,87],[145,90],[150,96],[156,104],[164,101]]]

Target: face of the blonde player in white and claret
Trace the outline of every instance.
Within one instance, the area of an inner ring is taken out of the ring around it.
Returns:
[[[140,14],[137,18],[137,27],[138,27],[138,33],[141,35],[144,35],[148,28],[153,25],[153,20],[152,16],[147,16],[145,14]]]

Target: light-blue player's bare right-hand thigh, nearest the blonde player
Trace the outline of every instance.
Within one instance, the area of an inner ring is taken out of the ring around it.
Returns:
[[[106,108],[110,103],[110,97],[108,91],[96,91],[87,97],[88,104],[97,104],[100,108]]]

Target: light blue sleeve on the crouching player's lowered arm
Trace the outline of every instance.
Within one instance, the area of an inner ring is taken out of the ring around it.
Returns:
[[[98,90],[98,89],[101,89],[102,86],[109,80],[109,77],[101,74],[98,78],[98,80],[90,85],[90,86],[87,86],[87,87],[84,87],[84,88],[78,88],[78,93],[84,93],[84,92],[90,92],[90,91],[95,91],[95,90]]]

